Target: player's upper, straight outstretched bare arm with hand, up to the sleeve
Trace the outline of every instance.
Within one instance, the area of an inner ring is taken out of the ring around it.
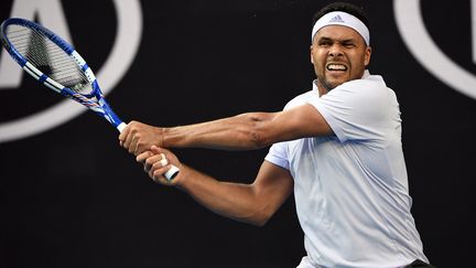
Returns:
[[[248,112],[174,128],[156,128],[132,121],[119,139],[129,152],[137,156],[152,144],[250,150],[278,141],[332,133],[331,127],[313,106],[302,105],[280,112]]]

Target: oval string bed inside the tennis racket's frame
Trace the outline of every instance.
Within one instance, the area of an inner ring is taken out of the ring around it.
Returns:
[[[7,35],[21,55],[53,81],[79,94],[93,90],[75,60],[48,37],[20,25],[10,25]]]

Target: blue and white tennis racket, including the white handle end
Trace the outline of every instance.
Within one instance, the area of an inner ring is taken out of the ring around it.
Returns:
[[[10,18],[0,26],[3,47],[41,84],[68,97],[122,131],[127,126],[112,111],[90,67],[76,50],[58,35],[29,20]],[[164,174],[172,180],[178,168]]]

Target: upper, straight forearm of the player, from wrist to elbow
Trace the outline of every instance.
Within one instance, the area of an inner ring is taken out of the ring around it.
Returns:
[[[258,149],[270,143],[266,128],[271,112],[249,112],[190,126],[163,128],[162,146],[226,150]]]

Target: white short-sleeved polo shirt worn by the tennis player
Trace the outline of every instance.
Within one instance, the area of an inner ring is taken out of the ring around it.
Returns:
[[[307,258],[316,267],[399,267],[428,261],[410,213],[400,109],[381,76],[320,97],[317,87],[284,109],[313,105],[335,137],[275,143],[266,160],[294,178]],[[312,124],[312,122],[310,122]]]

